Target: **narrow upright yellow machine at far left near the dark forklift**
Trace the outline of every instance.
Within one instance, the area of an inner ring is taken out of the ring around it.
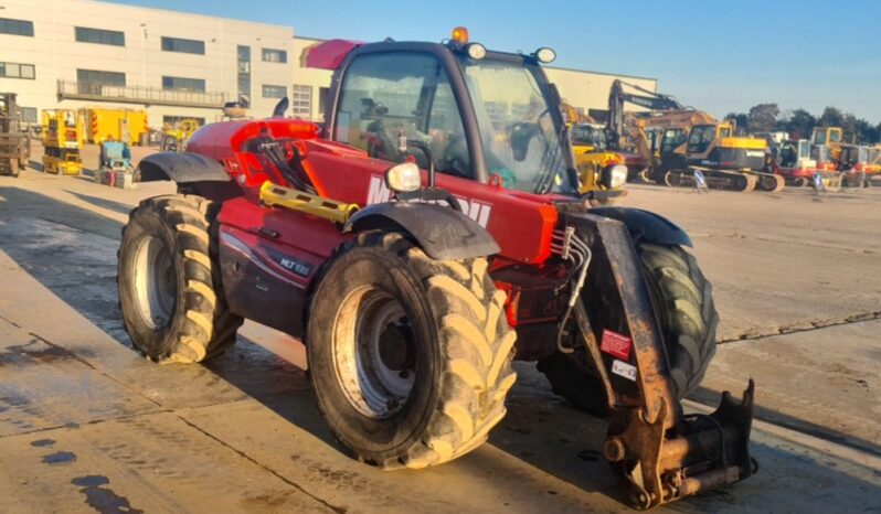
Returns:
[[[43,111],[43,171],[78,175],[83,168],[79,148],[83,120],[75,110]]]

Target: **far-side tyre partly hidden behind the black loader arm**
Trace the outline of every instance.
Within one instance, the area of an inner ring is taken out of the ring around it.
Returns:
[[[719,314],[712,285],[693,256],[679,246],[636,245],[643,272],[658,314],[670,362],[670,383],[682,399],[703,379],[715,354]],[[608,403],[593,361],[582,346],[572,354],[554,353],[539,361],[553,392],[575,407],[606,414]]]

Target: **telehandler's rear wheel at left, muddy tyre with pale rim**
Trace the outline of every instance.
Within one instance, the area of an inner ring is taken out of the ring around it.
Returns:
[[[119,308],[135,347],[160,364],[195,363],[235,342],[209,234],[214,204],[166,195],[131,211],[119,246]]]

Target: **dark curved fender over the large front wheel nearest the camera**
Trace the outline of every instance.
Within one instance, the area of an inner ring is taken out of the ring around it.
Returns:
[[[486,228],[443,205],[411,202],[373,204],[354,213],[343,232],[374,228],[403,228],[428,257],[437,260],[486,257],[501,250]]]

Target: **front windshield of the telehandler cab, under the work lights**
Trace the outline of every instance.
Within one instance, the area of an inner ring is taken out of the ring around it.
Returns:
[[[487,171],[510,189],[575,192],[566,173],[564,127],[558,126],[542,94],[538,67],[489,58],[463,61]]]

